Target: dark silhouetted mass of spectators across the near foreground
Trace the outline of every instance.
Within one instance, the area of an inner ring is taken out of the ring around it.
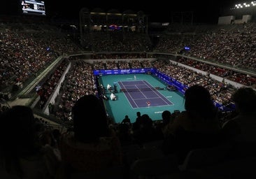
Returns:
[[[150,159],[152,165],[161,165],[157,159],[172,156],[172,166],[167,168],[180,178],[184,173],[178,166],[185,162],[190,151],[223,146],[228,147],[221,162],[251,159],[255,157],[256,92],[241,87],[232,94],[232,99],[236,112],[225,123],[220,123],[219,110],[210,92],[201,85],[192,85],[185,92],[185,110],[180,113],[165,110],[162,120],[154,123],[148,114],[138,111],[136,122],[131,123],[124,114],[122,123],[113,124],[101,99],[87,94],[73,105],[72,127],[64,132],[38,124],[30,107],[12,106],[0,114],[0,176],[68,179],[100,175],[108,178],[120,173],[119,178],[135,179],[143,175],[142,168],[159,169],[143,162],[143,166],[138,165],[141,160]],[[97,113],[93,113],[95,108]],[[250,148],[241,150],[245,143]],[[208,162],[211,166],[211,160]],[[241,168],[239,172],[248,176]],[[211,177],[204,169],[200,173],[202,178]],[[228,175],[234,173],[236,170]],[[196,174],[192,172],[190,177]]]

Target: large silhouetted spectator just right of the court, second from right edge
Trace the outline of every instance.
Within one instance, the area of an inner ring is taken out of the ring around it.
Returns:
[[[195,148],[213,147],[222,143],[222,132],[213,100],[208,90],[193,85],[185,91],[185,111],[169,124],[162,150],[176,153],[183,162],[187,153]]]

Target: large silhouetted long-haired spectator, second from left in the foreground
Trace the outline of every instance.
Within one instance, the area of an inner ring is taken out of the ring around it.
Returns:
[[[106,110],[99,98],[94,94],[80,97],[72,114],[73,131],[60,139],[64,169],[87,172],[122,164],[120,141],[108,128]]]

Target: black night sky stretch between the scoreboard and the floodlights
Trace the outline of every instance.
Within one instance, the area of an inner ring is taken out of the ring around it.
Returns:
[[[65,0],[68,1],[68,0]],[[230,1],[230,0],[229,0]],[[59,2],[59,3],[56,3]],[[206,1],[200,3],[200,1],[83,1],[83,0],[71,0],[70,3],[64,3],[60,0],[45,0],[45,5],[48,6],[48,12],[52,15],[58,13],[59,15],[72,15],[78,16],[78,12],[81,8],[102,8],[103,10],[110,10],[115,8],[122,13],[125,10],[134,10],[138,12],[142,10],[145,14],[149,15],[150,22],[169,22],[171,14],[174,12],[193,12],[195,17],[200,17],[201,14],[205,14],[204,17],[199,18],[199,21],[204,21],[206,17],[217,18],[220,15],[220,8],[227,6],[225,0]],[[218,3],[219,2],[219,3]],[[221,2],[221,3],[220,3]],[[222,5],[220,5],[222,4]],[[55,11],[56,10],[56,11]],[[58,12],[57,12],[58,11]],[[211,19],[212,20],[212,19]]]

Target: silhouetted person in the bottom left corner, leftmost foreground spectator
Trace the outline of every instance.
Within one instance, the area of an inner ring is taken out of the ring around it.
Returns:
[[[54,178],[60,159],[50,145],[36,140],[35,118],[31,108],[13,106],[1,115],[1,176]]]

